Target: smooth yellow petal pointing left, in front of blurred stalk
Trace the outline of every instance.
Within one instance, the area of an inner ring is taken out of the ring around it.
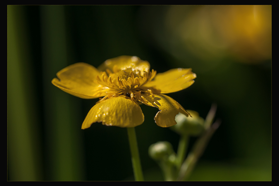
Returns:
[[[106,88],[94,83],[96,76],[100,72],[90,64],[76,63],[60,70],[51,82],[71,95],[93,99],[106,95]]]

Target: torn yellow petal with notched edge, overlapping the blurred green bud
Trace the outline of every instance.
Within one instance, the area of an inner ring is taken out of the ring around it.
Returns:
[[[175,125],[175,116],[180,111],[183,114],[186,113],[188,116],[188,113],[185,111],[185,109],[179,103],[177,103],[177,101],[167,95],[158,94],[152,97],[151,95],[144,94],[143,96],[148,101],[144,102],[144,104],[159,108],[160,111],[154,117],[154,120],[158,126],[169,127]]]

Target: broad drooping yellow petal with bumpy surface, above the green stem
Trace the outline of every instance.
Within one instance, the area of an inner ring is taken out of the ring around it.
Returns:
[[[144,122],[144,115],[133,100],[126,96],[118,96],[92,107],[82,123],[82,129],[95,122],[102,122],[107,126],[135,127]]]

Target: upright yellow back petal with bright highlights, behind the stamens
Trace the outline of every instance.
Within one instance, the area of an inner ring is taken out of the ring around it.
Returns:
[[[137,56],[122,55],[116,58],[106,60],[98,69],[100,71],[111,70],[116,73],[116,70],[132,69],[133,71],[149,72],[150,64],[148,61],[143,61]]]

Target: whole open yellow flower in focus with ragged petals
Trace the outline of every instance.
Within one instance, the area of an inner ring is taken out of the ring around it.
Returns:
[[[196,74],[191,69],[179,68],[156,75],[149,66],[148,61],[136,56],[106,60],[98,69],[90,64],[76,63],[60,70],[56,74],[59,79],[54,78],[51,82],[83,99],[103,97],[87,114],[82,129],[95,122],[107,126],[138,126],[144,122],[140,102],[160,110],[154,118],[158,126],[173,126],[179,112],[186,116],[189,113],[164,94],[191,86]]]

